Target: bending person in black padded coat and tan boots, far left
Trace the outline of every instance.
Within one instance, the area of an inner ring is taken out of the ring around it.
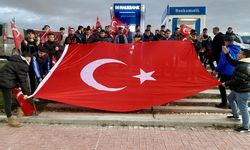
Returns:
[[[24,53],[24,57],[13,55],[9,58],[9,62],[0,70],[0,88],[3,92],[4,110],[8,118],[8,125],[11,127],[21,127],[16,116],[11,114],[12,105],[12,88],[20,85],[24,94],[24,99],[30,95],[28,71],[31,55]]]

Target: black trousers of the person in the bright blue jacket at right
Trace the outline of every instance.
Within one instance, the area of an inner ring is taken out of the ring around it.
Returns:
[[[231,80],[231,76],[228,75],[220,75],[220,82],[226,82]],[[227,93],[226,93],[226,88],[222,85],[219,85],[219,90],[220,90],[220,96],[221,96],[221,103],[223,105],[227,105]]]

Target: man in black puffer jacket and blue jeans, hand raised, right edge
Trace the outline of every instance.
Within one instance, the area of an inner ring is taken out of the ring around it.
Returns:
[[[226,47],[223,47],[222,50],[229,63],[235,66],[232,79],[223,83],[232,89],[232,92],[228,95],[228,101],[231,105],[233,115],[227,116],[227,118],[239,120],[239,107],[242,115],[242,127],[235,130],[239,132],[249,132],[250,50],[242,49],[237,55],[238,60],[234,60],[229,55],[229,50]]]

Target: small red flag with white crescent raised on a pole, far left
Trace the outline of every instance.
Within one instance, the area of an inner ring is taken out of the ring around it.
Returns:
[[[23,41],[22,34],[17,30],[16,25],[13,21],[10,21],[10,26],[12,30],[13,40],[15,44],[16,51],[19,49],[20,43]]]

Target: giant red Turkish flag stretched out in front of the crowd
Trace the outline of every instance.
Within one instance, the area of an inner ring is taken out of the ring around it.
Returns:
[[[188,41],[66,46],[32,95],[36,98],[127,112],[191,96],[220,83]]]

